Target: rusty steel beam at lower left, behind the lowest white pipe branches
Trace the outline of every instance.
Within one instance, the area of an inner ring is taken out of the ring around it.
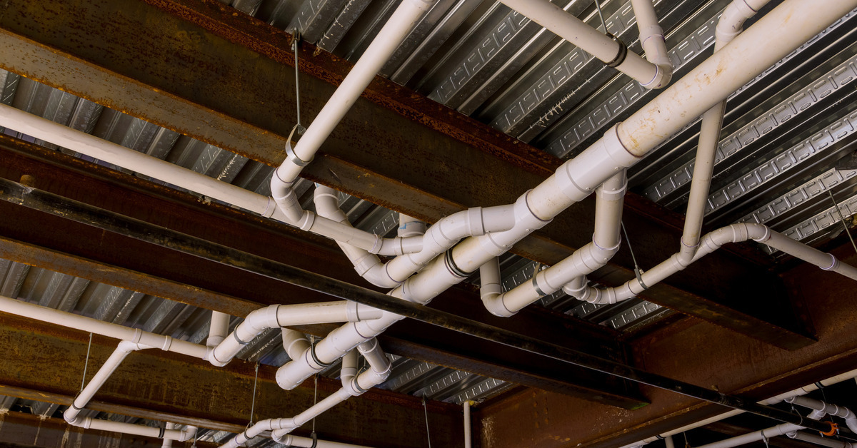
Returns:
[[[0,394],[69,404],[78,391],[87,356],[87,333],[3,315],[0,321]],[[99,366],[116,340],[93,337],[90,367]],[[297,415],[313,403],[313,381],[283,391],[274,380],[275,367],[259,369],[255,421]],[[181,424],[238,432],[249,420],[254,366],[233,361],[217,368],[206,361],[159,351],[137,352],[123,361],[90,409]],[[335,379],[319,379],[319,397],[341,387]],[[458,406],[428,403],[433,439],[443,446],[463,442]],[[413,429],[425,427],[420,398],[388,391],[368,391],[339,404],[316,419],[320,439],[383,447],[423,446]],[[295,433],[307,435],[309,428]]]

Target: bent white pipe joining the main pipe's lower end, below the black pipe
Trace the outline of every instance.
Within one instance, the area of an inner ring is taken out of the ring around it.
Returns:
[[[247,318],[212,350],[209,361],[217,367],[225,366],[245,345],[268,328],[357,322],[379,319],[382,313],[380,309],[351,301],[271,305],[259,308],[248,314]]]

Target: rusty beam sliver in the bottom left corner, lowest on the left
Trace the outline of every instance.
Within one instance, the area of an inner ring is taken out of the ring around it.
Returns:
[[[66,446],[113,446],[123,448],[160,448],[162,440],[128,434],[108,433],[72,427],[63,419],[42,418],[23,412],[0,416],[0,448],[64,448]],[[216,448],[209,442],[196,442],[199,448]]]

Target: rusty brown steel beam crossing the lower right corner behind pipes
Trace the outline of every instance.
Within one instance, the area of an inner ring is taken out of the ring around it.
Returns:
[[[850,245],[834,254],[857,263]],[[651,372],[755,399],[854,369],[854,281],[804,265],[783,278],[789,294],[806,302],[806,317],[816,327],[818,343],[793,351],[776,349],[687,319],[633,341],[635,362]],[[480,410],[482,446],[620,446],[726,410],[649,388],[644,393],[652,403],[628,412],[540,391],[520,392]]]

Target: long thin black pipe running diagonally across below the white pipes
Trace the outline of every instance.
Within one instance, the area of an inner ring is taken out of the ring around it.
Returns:
[[[669,379],[661,375],[647,373],[634,367],[626,366],[614,361],[608,361],[576,350],[567,349],[566,347],[560,347],[534,337],[527,337],[515,332],[509,332],[499,327],[488,326],[475,320],[464,319],[455,314],[449,314],[437,309],[423,307],[417,303],[407,302],[396,297],[387,296],[380,292],[368,290],[353,284],[347,284],[313,272],[307,272],[294,266],[288,266],[272,260],[266,260],[255,255],[243,253],[233,248],[226,248],[225,246],[221,246],[213,242],[207,242],[200,238],[159,228],[133,218],[123,217],[117,213],[106,212],[105,210],[100,210],[93,206],[87,206],[74,200],[59,197],[56,194],[50,194],[34,188],[27,188],[17,182],[0,179],[0,200],[7,200],[41,212],[47,212],[56,216],[75,220],[77,222],[94,225],[102,230],[108,230],[141,241],[151,242],[161,247],[178,250],[184,254],[191,254],[226,266],[232,266],[244,271],[254,272],[267,278],[273,278],[287,284],[294,284],[309,290],[315,290],[339,299],[362,303],[363,305],[367,305],[372,308],[384,310],[388,314],[397,314],[398,316],[420,320],[434,326],[441,326],[470,336],[480,337],[496,343],[502,343],[509,347],[523,349],[531,353],[535,353],[536,355],[548,356],[549,358],[558,361],[568,362],[579,367],[590,368],[598,372],[607,373],[633,382],[652,385],[668,391],[675,391],[676,393],[681,393],[689,397],[695,397],[710,403],[722,404],[730,408],[743,409],[754,414],[768,415],[776,420],[788,422],[794,420],[794,415],[791,415],[788,412],[783,412],[779,409],[770,409],[764,406],[759,408],[756,405],[752,405],[750,401],[740,397],[722,395],[716,391],[711,391],[696,385],[690,385],[675,379]],[[153,230],[157,230],[157,232]],[[159,237],[152,238],[151,236],[154,234],[159,234]],[[465,240],[465,242],[467,241],[468,240]],[[440,261],[442,262],[442,259]],[[15,301],[13,299],[7,299],[7,301],[23,303],[25,307],[38,307],[24,302]],[[9,308],[4,308],[6,304],[7,302],[0,298],[0,311],[18,314],[15,313],[14,310],[10,311]],[[45,309],[57,311],[52,308]],[[21,315],[28,317],[26,314]],[[75,314],[70,315],[81,317],[76,316]],[[38,318],[34,319],[39,320]],[[84,325],[91,325],[88,318],[81,319],[84,319]],[[397,318],[396,320],[399,319],[401,318]],[[381,320],[384,320],[384,318]],[[133,329],[108,324],[100,320],[94,320],[92,324],[94,324],[94,328],[107,326],[107,328],[110,329],[118,327],[124,331],[134,331]],[[389,323],[388,325],[392,325],[392,323]],[[88,327],[85,331],[89,331]],[[99,331],[96,331],[96,333],[105,334]],[[105,334],[105,336],[117,337],[119,339],[127,338],[124,337],[127,336],[127,333],[121,334],[123,337],[111,336],[111,334]],[[325,339],[322,339],[322,341]],[[199,347],[207,349],[201,345]],[[345,351],[343,351],[343,353],[345,353]],[[827,428],[812,427],[812,429],[826,430]]]

